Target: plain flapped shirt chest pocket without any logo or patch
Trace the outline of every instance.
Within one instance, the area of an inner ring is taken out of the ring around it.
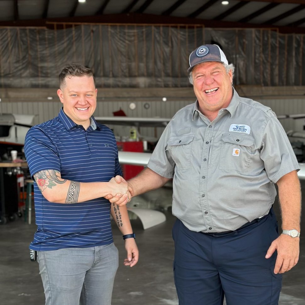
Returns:
[[[168,140],[168,150],[177,169],[189,169],[191,166],[191,147],[194,135],[173,136]]]

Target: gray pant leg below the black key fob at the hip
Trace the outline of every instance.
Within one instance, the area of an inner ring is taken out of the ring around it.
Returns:
[[[94,247],[38,251],[46,305],[78,305],[86,272],[94,263]]]

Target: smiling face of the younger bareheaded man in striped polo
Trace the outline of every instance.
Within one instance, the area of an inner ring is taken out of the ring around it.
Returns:
[[[85,129],[90,126],[90,117],[96,108],[97,89],[92,76],[66,76],[61,89],[57,90],[64,113]]]

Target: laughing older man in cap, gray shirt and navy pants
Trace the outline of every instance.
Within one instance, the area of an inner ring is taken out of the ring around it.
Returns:
[[[274,112],[232,87],[234,67],[217,45],[194,50],[188,72],[197,101],[175,114],[147,169],[128,183],[136,196],[173,178],[180,305],[219,305],[224,296],[227,305],[278,304],[281,274],[299,256],[297,159]]]

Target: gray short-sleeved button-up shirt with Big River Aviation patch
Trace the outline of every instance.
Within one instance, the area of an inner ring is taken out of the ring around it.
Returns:
[[[148,167],[173,178],[173,214],[193,231],[235,230],[266,215],[274,183],[299,169],[274,112],[233,89],[212,122],[198,101],[165,128]]]

